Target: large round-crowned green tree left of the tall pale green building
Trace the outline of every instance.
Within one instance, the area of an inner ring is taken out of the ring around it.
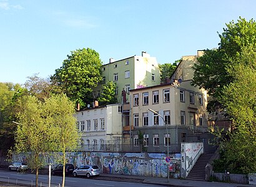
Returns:
[[[72,51],[51,77],[72,101],[81,107],[92,102],[92,87],[102,80],[99,53],[91,48]]]

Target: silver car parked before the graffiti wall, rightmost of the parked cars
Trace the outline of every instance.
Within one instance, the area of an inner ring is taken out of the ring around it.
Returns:
[[[73,176],[83,175],[90,178],[91,176],[99,176],[100,173],[101,170],[97,165],[83,165],[73,171]]]

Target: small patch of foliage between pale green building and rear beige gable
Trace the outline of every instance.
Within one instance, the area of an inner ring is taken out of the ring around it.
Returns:
[[[170,78],[172,76],[172,73],[174,73],[175,68],[177,67],[177,64],[179,64],[180,60],[175,60],[174,63],[164,63],[162,65],[159,64],[161,76],[160,76],[160,82],[165,83],[166,78]]]

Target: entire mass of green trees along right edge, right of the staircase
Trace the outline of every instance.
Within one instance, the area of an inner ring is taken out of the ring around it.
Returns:
[[[226,24],[219,48],[205,50],[194,66],[193,84],[212,96],[209,111],[225,111],[234,130],[221,137],[214,171],[256,172],[256,23]]]

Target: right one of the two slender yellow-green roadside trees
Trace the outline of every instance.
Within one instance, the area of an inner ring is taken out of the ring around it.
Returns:
[[[64,187],[66,152],[75,150],[79,140],[76,117],[74,117],[75,105],[64,94],[47,99],[45,105],[44,113],[51,116],[51,125],[54,128],[55,150],[62,153],[62,187]]]

